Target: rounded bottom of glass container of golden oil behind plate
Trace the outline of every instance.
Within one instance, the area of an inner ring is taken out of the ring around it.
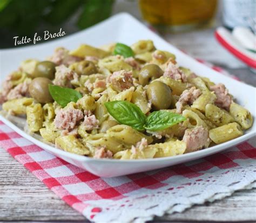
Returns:
[[[143,18],[160,29],[184,31],[211,22],[217,0],[140,0]]]

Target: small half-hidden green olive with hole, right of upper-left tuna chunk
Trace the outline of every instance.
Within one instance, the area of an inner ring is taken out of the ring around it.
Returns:
[[[75,71],[78,75],[92,75],[98,72],[95,64],[89,60],[74,63],[70,66],[70,69]]]

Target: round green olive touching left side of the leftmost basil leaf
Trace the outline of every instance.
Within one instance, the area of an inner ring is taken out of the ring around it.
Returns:
[[[39,103],[52,102],[53,99],[49,92],[49,84],[52,84],[52,82],[46,77],[37,77],[33,79],[29,85],[30,96]]]

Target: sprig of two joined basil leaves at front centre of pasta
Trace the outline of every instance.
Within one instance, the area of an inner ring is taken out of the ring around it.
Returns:
[[[137,105],[126,101],[107,102],[105,106],[120,124],[129,125],[138,131],[160,131],[186,120],[180,114],[168,111],[155,111],[146,117]]]

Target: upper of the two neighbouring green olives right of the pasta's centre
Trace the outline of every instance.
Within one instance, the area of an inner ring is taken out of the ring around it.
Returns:
[[[149,84],[151,80],[157,79],[163,75],[163,70],[156,64],[145,65],[139,73],[139,83],[143,86]]]

